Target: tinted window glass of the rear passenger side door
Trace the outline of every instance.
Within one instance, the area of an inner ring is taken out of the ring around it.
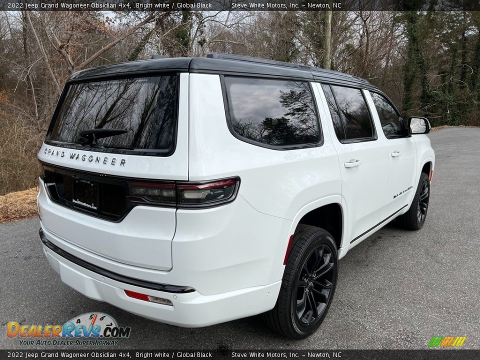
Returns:
[[[332,111],[330,108],[330,112],[338,113],[344,131],[344,137],[340,136],[338,139],[359,141],[374,139],[373,122],[360,89],[331,85],[331,91],[337,110]],[[332,118],[335,116],[337,115],[333,114]]]

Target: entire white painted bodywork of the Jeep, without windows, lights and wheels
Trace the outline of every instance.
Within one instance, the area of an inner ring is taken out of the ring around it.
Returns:
[[[288,238],[302,216],[324,205],[340,206],[342,257],[383,225],[382,219],[411,203],[414,191],[395,200],[392,193],[412,181],[416,186],[423,164],[434,163],[426,136],[398,141],[384,137],[368,91],[364,94],[378,138],[340,143],[321,87],[317,83],[311,87],[323,136],[323,143],[315,147],[274,150],[234,137],[226,122],[220,76],[199,73],[180,75],[177,139],[171,156],[119,155],[124,165],[110,166],[111,154],[101,154],[109,158],[106,163],[88,161],[98,153],[43,144],[39,159],[66,168],[146,179],[241,180],[231,203],[205,209],[136,206],[117,223],[52,202],[40,180],[41,228],[54,245],[123,276],[191,286],[195,291],[172,294],[121,283],[44,246],[51,266],[86,296],[179,326],[205,326],[271,309],[280,289]],[[79,153],[79,159],[57,155],[57,150]],[[395,150],[405,156],[392,158]],[[345,167],[351,159],[361,165]],[[127,297],[125,289],[170,299],[173,306]]]

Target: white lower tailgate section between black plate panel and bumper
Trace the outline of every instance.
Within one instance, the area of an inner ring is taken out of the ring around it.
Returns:
[[[49,238],[55,245],[60,246],[57,239],[63,239],[64,245],[71,243],[124,264],[171,268],[174,208],[135,206],[122,221],[106,221],[52,202],[41,179],[37,201],[43,226],[56,236]]]

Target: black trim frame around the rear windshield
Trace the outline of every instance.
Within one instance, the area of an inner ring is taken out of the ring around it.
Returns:
[[[158,76],[176,76],[177,78],[177,107],[175,111],[175,126],[173,127],[173,139],[172,144],[169,149],[162,150],[162,149],[142,149],[142,148],[133,148],[133,149],[125,149],[125,148],[112,148],[112,147],[101,147],[101,146],[85,146],[85,145],[77,145],[72,142],[66,141],[59,141],[53,140],[50,138],[51,132],[53,131],[53,127],[55,126],[55,122],[58,117],[58,113],[60,112],[60,108],[63,104],[63,100],[68,92],[70,85],[78,84],[78,83],[86,83],[86,82],[100,82],[100,81],[108,81],[108,80],[119,80],[124,78],[140,78],[140,77],[158,77]],[[106,153],[114,153],[114,154],[123,154],[123,155],[143,155],[143,156],[162,156],[168,157],[171,156],[176,149],[177,143],[177,136],[178,136],[178,112],[180,107],[180,72],[179,71],[148,71],[148,72],[136,72],[136,73],[115,73],[109,74],[105,76],[92,76],[92,77],[82,77],[78,79],[72,79],[65,83],[63,89],[61,91],[60,97],[56,103],[55,110],[53,111],[53,115],[51,116],[51,121],[46,131],[45,139],[43,142],[47,145],[51,146],[58,146],[64,148],[70,148],[75,150],[84,150],[84,151],[93,151],[93,152],[106,152]]]

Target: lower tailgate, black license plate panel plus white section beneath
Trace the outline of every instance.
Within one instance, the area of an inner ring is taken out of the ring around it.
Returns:
[[[46,196],[39,196],[38,204],[46,230],[115,261],[171,268],[175,207],[141,205],[135,198],[131,201],[126,180],[49,165],[43,169],[40,193]]]

